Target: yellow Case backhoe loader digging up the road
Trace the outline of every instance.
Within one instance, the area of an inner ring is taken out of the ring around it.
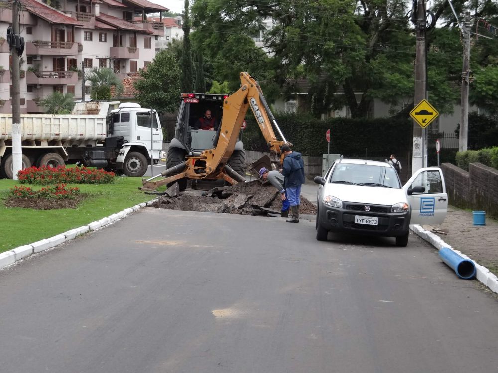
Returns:
[[[269,147],[269,156],[254,162],[252,169],[259,170],[263,166],[280,168],[283,161],[280,147],[292,144],[280,131],[256,79],[246,72],[240,73],[240,79],[239,90],[231,95],[181,94],[175,138],[168,149],[166,170],[150,179],[143,179],[141,190],[155,191],[160,186],[171,186],[175,182],[180,190],[184,190],[188,180],[223,179],[228,184],[245,182],[245,152],[238,136],[249,107]],[[196,128],[198,118],[206,110],[210,110],[215,118],[221,118],[216,131]],[[282,140],[277,140],[273,127]],[[157,179],[159,177],[162,179]]]

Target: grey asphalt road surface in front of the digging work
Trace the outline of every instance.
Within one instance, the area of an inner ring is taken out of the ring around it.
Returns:
[[[497,372],[498,302],[411,235],[145,208],[0,271],[2,373]]]

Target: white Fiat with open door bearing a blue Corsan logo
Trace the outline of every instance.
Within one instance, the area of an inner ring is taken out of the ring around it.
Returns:
[[[395,237],[406,246],[410,224],[441,224],[448,196],[441,169],[417,170],[403,186],[385,162],[338,159],[317,176],[316,239],[329,231]]]

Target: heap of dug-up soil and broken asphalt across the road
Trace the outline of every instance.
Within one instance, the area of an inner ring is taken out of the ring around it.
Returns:
[[[282,208],[276,188],[258,180],[204,192],[190,189],[180,192],[178,185],[174,184],[161,194],[152,207],[254,216],[280,216]],[[300,214],[316,213],[315,206],[309,200],[303,196],[300,199]]]

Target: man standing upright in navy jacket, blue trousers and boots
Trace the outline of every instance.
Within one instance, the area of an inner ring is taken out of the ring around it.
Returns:
[[[304,161],[301,153],[293,152],[290,146],[281,147],[285,156],[282,165],[284,188],[287,191],[287,198],[290,204],[292,217],[285,220],[287,223],[299,223],[299,205],[301,204],[301,186],[304,183]]]

